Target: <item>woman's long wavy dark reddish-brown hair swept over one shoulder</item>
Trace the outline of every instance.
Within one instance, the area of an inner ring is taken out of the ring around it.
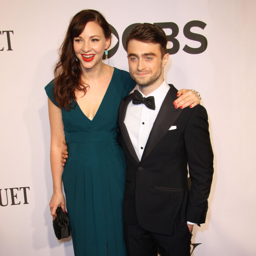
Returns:
[[[83,90],[86,94],[89,87],[82,81],[82,69],[80,62],[75,60],[73,45],[74,38],[83,32],[86,24],[90,21],[95,21],[102,27],[105,38],[111,37],[109,23],[100,12],[83,10],[73,17],[64,42],[60,46],[60,58],[54,69],[54,98],[60,108],[72,109],[72,102],[76,102],[75,90]]]

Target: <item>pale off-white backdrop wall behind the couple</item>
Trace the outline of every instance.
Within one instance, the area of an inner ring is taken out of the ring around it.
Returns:
[[[193,255],[256,255],[254,0],[0,1],[0,255],[73,255],[70,239],[56,239],[49,211],[44,87],[53,79],[70,18],[86,8],[101,11],[117,30],[120,45],[109,64],[124,70],[125,28],[143,22],[177,24],[180,49],[170,56],[166,79],[177,88],[200,91],[215,154],[207,221],[193,231],[192,243],[201,243]],[[192,28],[207,38],[207,49],[200,54],[182,50],[186,44],[200,46],[183,34],[192,20],[207,24],[203,30]]]

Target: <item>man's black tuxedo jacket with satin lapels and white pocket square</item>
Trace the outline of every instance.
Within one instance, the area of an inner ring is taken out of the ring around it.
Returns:
[[[172,235],[187,221],[204,223],[213,175],[213,152],[203,106],[175,109],[177,89],[170,85],[147,140],[141,161],[124,118],[132,94],[120,103],[119,141],[126,160],[123,220]],[[169,130],[171,126],[176,129]],[[188,189],[188,168],[191,188]]]

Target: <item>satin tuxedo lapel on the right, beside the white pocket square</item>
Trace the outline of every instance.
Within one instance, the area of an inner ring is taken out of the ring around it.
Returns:
[[[173,106],[173,102],[176,98],[177,89],[173,87],[173,85],[170,85],[170,89],[166,94],[149,134],[141,162],[146,160],[154,147],[156,147],[160,140],[165,136],[166,132],[168,132],[169,128],[172,126],[177,117],[181,114],[182,109],[175,109]]]

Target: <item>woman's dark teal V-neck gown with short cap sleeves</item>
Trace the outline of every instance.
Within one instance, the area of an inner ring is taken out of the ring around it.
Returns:
[[[61,109],[68,159],[62,174],[75,256],[126,256],[122,200],[124,152],[117,142],[121,98],[135,87],[128,72],[114,69],[93,120],[73,103]],[[45,87],[50,100],[54,80]]]

